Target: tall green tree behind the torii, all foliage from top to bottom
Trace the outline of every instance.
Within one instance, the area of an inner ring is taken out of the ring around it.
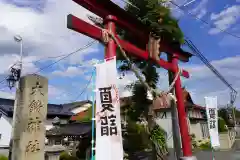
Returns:
[[[129,0],[133,5],[127,5],[125,7],[126,11],[131,15],[135,15],[142,23],[150,28],[150,33],[168,43],[182,44],[183,33],[178,26],[178,21],[171,16],[170,10],[161,5],[162,1],[159,0]],[[141,41],[136,38],[136,35],[132,35],[127,31],[118,32],[126,41],[133,43],[139,48],[146,49],[146,42]],[[160,46],[161,47],[161,46]],[[127,72],[130,70],[127,61],[123,60],[121,53],[118,52],[118,60],[122,60],[119,70],[122,72]],[[159,81],[159,75],[157,73],[157,66],[155,66],[151,61],[143,61],[137,58],[131,57],[132,62],[141,71],[148,85],[154,89],[157,88],[157,83]],[[136,81],[133,84],[127,86],[132,89],[132,101],[133,104],[128,108],[127,114],[131,121],[138,121],[140,117],[144,117],[146,120],[150,120],[149,117],[149,107],[151,106],[151,101],[148,100],[148,92],[146,88],[139,82]],[[149,126],[154,126],[149,122]],[[155,126],[158,127],[158,126]],[[163,146],[166,145],[164,131],[159,128],[149,128],[152,140]],[[156,148],[156,145],[155,145]]]

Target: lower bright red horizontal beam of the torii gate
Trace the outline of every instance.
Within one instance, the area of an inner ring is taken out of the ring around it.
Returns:
[[[91,37],[93,39],[96,39],[96,40],[102,42],[102,29],[101,28],[91,25],[91,24],[73,16],[72,14],[69,14],[67,16],[67,28],[72,29],[76,32],[82,33],[88,37]],[[129,42],[121,40],[120,38],[118,38],[118,41],[120,42],[123,49],[126,52],[128,52],[129,54],[136,56],[138,58],[144,59],[144,60],[149,59],[149,56],[148,56],[149,54],[147,51],[142,50]],[[154,60],[154,61],[156,64],[158,64],[159,66],[163,67],[166,70],[170,70],[175,73],[178,72],[176,70],[176,68],[173,67],[172,64],[164,61],[163,59],[160,59],[158,61]],[[185,70],[182,70],[181,75],[183,77],[189,78],[189,73]]]

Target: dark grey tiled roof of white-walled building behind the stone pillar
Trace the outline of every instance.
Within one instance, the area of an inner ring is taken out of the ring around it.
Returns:
[[[48,104],[48,111],[47,116],[48,117],[70,117],[73,115],[71,110],[77,106],[81,106],[85,103],[91,103],[91,101],[81,101],[81,102],[75,102],[70,104]],[[13,115],[13,106],[14,106],[14,100],[12,99],[4,99],[0,98],[0,111],[3,112],[3,114],[6,114],[7,116]]]

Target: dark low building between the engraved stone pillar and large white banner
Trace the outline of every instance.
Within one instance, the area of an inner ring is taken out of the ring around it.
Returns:
[[[46,132],[47,146],[61,145],[67,151],[79,158],[90,157],[92,141],[92,123],[70,122],[68,124],[54,123],[54,127]]]

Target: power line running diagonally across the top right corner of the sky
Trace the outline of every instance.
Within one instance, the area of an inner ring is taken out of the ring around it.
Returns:
[[[173,2],[173,1],[171,1],[171,0],[170,0],[169,2],[170,2],[171,4],[173,4],[174,6],[176,6],[177,8],[179,8],[180,10],[182,10],[183,12],[186,12],[188,15],[192,16],[192,17],[195,18],[196,20],[199,20],[199,21],[201,21],[202,23],[204,23],[204,24],[206,24],[206,25],[209,25],[210,27],[216,28],[216,29],[220,30],[221,32],[223,32],[223,33],[225,33],[225,34],[228,34],[228,35],[230,35],[230,36],[232,36],[232,37],[235,37],[235,38],[240,39],[240,36],[235,35],[235,34],[233,34],[233,33],[231,33],[231,32],[228,32],[228,31],[226,31],[226,30],[224,30],[224,29],[222,29],[222,28],[219,28],[219,27],[215,26],[214,24],[211,24],[211,23],[207,22],[206,20],[203,20],[203,19],[197,17],[197,16],[194,15],[193,13],[191,13],[191,12],[189,12],[189,11],[186,11],[182,6],[176,4],[175,2]]]

